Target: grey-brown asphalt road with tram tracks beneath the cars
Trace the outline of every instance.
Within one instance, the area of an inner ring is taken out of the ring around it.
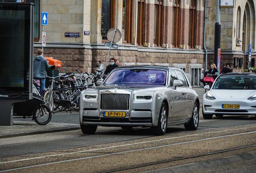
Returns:
[[[204,91],[198,90],[202,97]],[[79,115],[57,113],[52,121],[79,123]],[[94,135],[75,130],[0,139],[0,172],[250,173],[256,168],[256,147],[237,147],[256,145],[255,139],[256,117],[204,120],[200,111],[197,131],[173,126],[163,136],[151,135],[149,128],[98,127]],[[190,156],[196,157],[184,159]]]

